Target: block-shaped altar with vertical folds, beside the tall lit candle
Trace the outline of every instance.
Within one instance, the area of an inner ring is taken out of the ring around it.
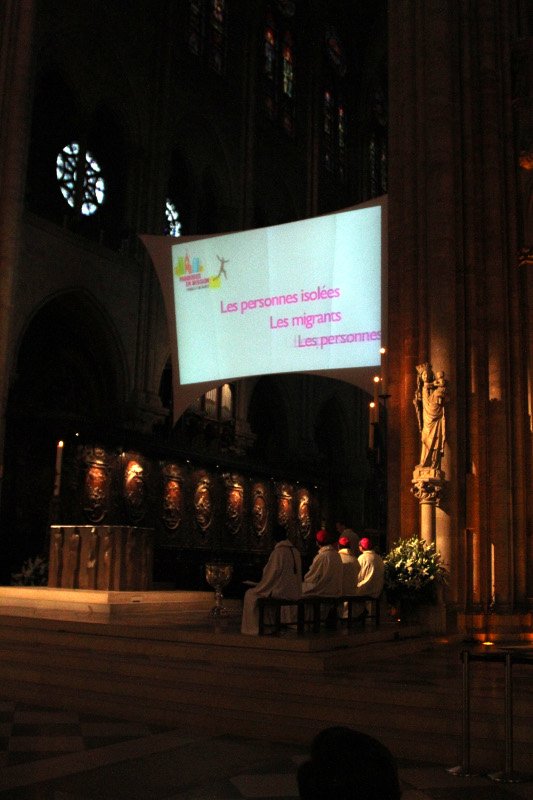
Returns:
[[[48,586],[150,589],[153,534],[127,525],[51,525]]]

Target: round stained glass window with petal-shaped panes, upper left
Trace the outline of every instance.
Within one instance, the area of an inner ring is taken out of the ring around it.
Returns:
[[[78,142],[66,145],[56,159],[56,177],[69,206],[84,216],[94,214],[105,198],[105,182],[97,161]]]

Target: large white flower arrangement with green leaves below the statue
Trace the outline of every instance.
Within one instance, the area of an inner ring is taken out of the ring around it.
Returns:
[[[400,539],[384,558],[385,591],[391,603],[435,603],[437,586],[447,582],[448,573],[433,543]]]

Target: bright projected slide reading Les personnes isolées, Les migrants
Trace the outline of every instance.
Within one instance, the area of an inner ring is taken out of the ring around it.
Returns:
[[[379,366],[381,214],[175,244],[180,383]]]

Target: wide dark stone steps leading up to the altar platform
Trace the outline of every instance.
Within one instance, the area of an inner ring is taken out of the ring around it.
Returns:
[[[317,662],[344,654],[336,640],[331,651],[312,652],[301,641],[208,630],[147,628],[141,636],[131,627],[19,623],[0,621],[0,680],[10,699],[302,744],[321,728],[346,724],[373,733],[398,756],[459,760],[460,663],[432,661],[431,642],[425,655],[420,641],[417,651],[412,641],[406,648],[394,641],[353,647],[359,666],[331,674]],[[501,768],[503,673],[486,666],[472,675],[472,759]],[[528,668],[515,669],[514,758],[525,770],[533,694]]]

